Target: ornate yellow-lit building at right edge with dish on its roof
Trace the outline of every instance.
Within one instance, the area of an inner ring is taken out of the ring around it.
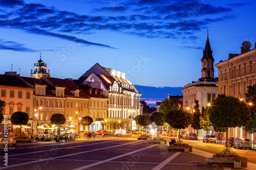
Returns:
[[[256,47],[250,50],[249,41],[244,41],[242,45],[241,54],[229,54],[227,60],[220,61],[215,66],[219,69],[219,94],[244,100],[247,86],[256,83]],[[253,139],[255,133],[249,135],[237,127],[229,128],[228,136]]]

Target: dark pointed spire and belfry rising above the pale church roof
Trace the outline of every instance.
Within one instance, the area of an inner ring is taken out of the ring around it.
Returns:
[[[208,32],[208,31],[207,31]],[[209,80],[214,78],[214,57],[212,57],[212,51],[210,48],[210,41],[207,33],[207,40],[203,51],[202,62],[202,77],[203,80]]]

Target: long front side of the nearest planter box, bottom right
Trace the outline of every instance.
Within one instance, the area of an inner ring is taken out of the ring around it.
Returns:
[[[212,158],[206,158],[205,163],[207,166],[213,167],[241,167],[242,162],[236,160],[213,160]]]

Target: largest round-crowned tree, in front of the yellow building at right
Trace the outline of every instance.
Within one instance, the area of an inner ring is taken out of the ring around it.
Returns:
[[[209,119],[214,127],[226,128],[241,127],[248,124],[250,120],[250,110],[245,102],[232,96],[221,96],[211,103],[208,108]],[[226,133],[226,143],[228,133]],[[228,146],[226,144],[226,150]]]

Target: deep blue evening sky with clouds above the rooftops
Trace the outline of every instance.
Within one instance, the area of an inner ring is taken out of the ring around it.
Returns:
[[[95,63],[133,84],[183,87],[201,78],[207,29],[215,64],[256,42],[255,1],[1,0],[0,74],[78,79]],[[12,65],[12,66],[11,66]],[[215,68],[215,77],[218,69]]]

